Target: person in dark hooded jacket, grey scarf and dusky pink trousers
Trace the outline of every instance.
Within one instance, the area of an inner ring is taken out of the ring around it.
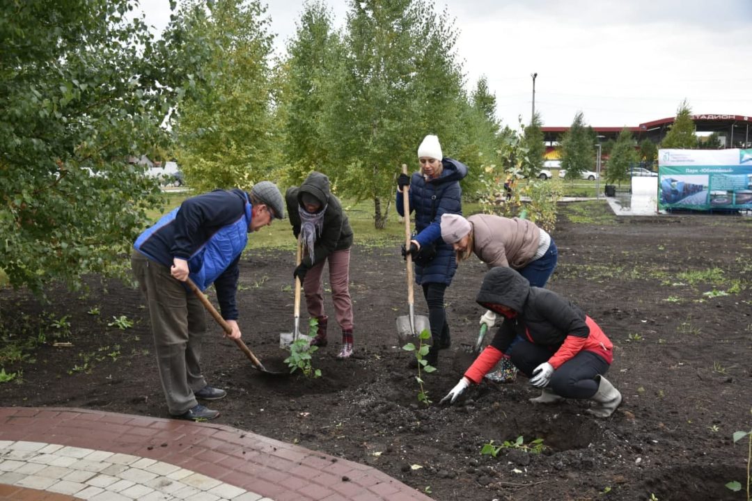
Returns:
[[[324,311],[323,270],[329,263],[329,285],[332,288],[337,323],[342,330],[342,349],[337,358],[353,355],[353,301],[350,299],[350,247],[353,230],[342,205],[329,189],[329,177],[311,172],[303,184],[287,189],[287,213],[293,234],[301,236],[304,257],[293,271],[305,292],[308,315],[317,318],[317,333],[312,346],[326,346],[329,317]]]

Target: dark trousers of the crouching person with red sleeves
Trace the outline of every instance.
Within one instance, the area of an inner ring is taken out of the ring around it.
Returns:
[[[535,367],[547,362],[553,355],[553,352],[546,346],[534,345],[528,340],[515,343],[507,353],[511,356],[514,367],[527,377],[532,376]],[[553,371],[548,388],[559,397],[580,399],[593,397],[598,391],[599,381],[596,381],[596,376],[604,375],[608,372],[608,367],[608,362],[600,355],[593,352],[579,352]]]

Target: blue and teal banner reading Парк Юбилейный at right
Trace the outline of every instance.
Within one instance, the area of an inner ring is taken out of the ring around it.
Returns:
[[[659,210],[752,210],[752,149],[659,149]]]

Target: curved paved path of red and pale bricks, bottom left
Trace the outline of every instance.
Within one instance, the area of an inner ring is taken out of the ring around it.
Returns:
[[[407,501],[371,466],[211,423],[0,407],[0,501]]]

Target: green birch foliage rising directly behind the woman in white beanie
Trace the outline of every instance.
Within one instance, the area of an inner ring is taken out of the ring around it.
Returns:
[[[384,228],[396,175],[417,163],[423,136],[438,134],[447,155],[459,150],[453,133],[466,98],[456,32],[446,13],[417,0],[349,5],[344,57],[327,80],[323,137],[335,170],[326,174],[342,195],[373,201],[374,226]]]

